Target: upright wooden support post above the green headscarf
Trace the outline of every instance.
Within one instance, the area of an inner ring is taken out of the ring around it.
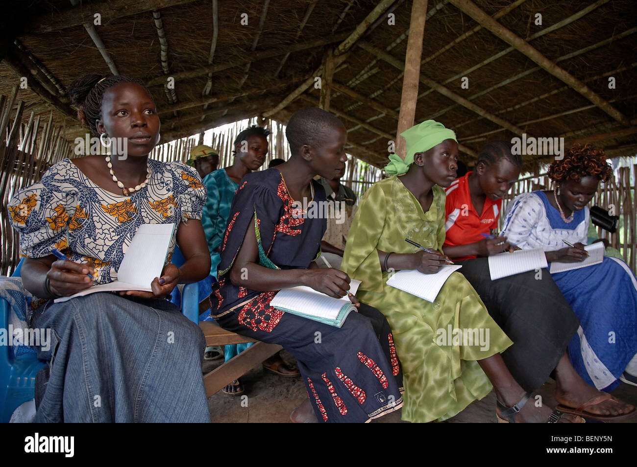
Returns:
[[[422,38],[425,33],[427,0],[413,0],[412,19],[409,25],[407,52],[404,56],[403,94],[400,99],[398,129],[396,132],[396,154],[406,157],[405,141],[400,134],[413,126],[418,101],[418,83],[420,78],[420,59],[422,57]]]

